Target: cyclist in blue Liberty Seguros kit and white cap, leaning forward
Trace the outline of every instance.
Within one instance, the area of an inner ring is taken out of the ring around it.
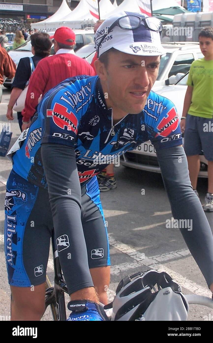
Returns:
[[[192,230],[180,230],[213,291],[213,237],[191,187],[178,115],[151,91],[164,54],[161,30],[144,14],[110,16],[95,35],[98,76],[76,76],[48,91],[19,137],[21,148],[11,148],[7,192],[26,194],[7,197],[5,206],[12,320],[39,320],[43,313],[53,226],[71,298],[68,320],[104,320],[98,304],[107,303],[110,260],[96,174],[149,139],[173,216],[192,220]]]

